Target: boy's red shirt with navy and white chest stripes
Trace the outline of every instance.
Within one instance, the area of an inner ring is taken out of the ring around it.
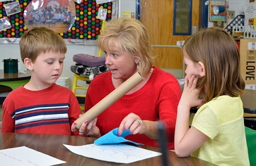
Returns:
[[[78,135],[71,125],[81,114],[75,94],[52,84],[40,91],[23,86],[9,93],[3,101],[2,133],[38,133]]]

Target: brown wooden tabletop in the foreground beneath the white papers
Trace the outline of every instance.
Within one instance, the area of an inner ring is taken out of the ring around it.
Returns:
[[[26,133],[0,133],[0,149],[26,146],[33,150],[42,152],[54,158],[66,161],[63,165],[161,165],[162,156],[137,161],[130,164],[118,164],[96,159],[85,158],[69,151],[63,144],[81,146],[93,143],[95,138],[69,136],[69,135],[49,135],[49,134],[26,134]],[[139,146],[147,150],[158,151],[159,148],[150,146]],[[168,151],[168,161],[170,165],[214,165],[197,158],[178,158],[175,152]]]

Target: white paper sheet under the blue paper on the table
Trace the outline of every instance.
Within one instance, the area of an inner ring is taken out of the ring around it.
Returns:
[[[92,143],[83,146],[71,146],[67,144],[63,145],[77,155],[114,163],[127,164],[162,155],[159,152],[150,151],[127,144],[96,145]]]

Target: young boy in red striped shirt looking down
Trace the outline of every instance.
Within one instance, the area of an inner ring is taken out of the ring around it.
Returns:
[[[76,96],[55,83],[67,52],[64,40],[51,29],[32,28],[21,37],[19,46],[31,79],[3,101],[1,132],[79,135],[71,131],[81,114]]]

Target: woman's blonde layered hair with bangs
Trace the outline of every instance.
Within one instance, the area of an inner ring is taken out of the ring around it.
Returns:
[[[148,31],[139,20],[121,17],[110,20],[97,39],[102,50],[116,46],[138,58],[138,73],[146,77],[154,63]]]

